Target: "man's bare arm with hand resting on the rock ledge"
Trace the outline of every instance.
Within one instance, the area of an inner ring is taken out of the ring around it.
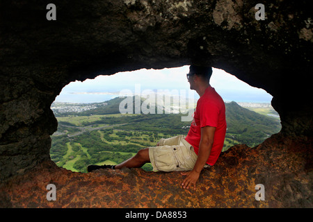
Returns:
[[[201,139],[199,144],[198,159],[195,162],[195,167],[192,171],[182,173],[186,176],[182,182],[184,188],[193,187],[195,189],[195,183],[197,182],[200,172],[202,171],[204,164],[207,162],[211,153],[211,148],[214,142],[214,133],[216,128],[213,126],[204,126],[201,128]]]

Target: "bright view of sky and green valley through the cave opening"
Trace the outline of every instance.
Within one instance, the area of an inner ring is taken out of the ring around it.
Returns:
[[[86,173],[88,164],[118,164],[162,137],[186,135],[199,99],[189,89],[188,67],[99,75],[63,87],[51,104],[58,120],[58,130],[51,135],[51,160]],[[210,85],[226,105],[223,151],[236,144],[257,146],[280,131],[280,117],[264,89],[215,68]],[[133,99],[127,101],[129,96]],[[131,103],[125,106],[125,101]],[[143,169],[151,171],[152,166]]]

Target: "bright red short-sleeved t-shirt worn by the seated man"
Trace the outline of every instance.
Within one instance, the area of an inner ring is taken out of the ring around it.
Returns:
[[[220,95],[211,86],[205,89],[204,94],[198,99],[197,107],[193,113],[193,121],[186,141],[193,146],[195,153],[199,153],[201,127],[214,126],[214,142],[207,160],[213,166],[222,151],[226,134],[225,103]]]

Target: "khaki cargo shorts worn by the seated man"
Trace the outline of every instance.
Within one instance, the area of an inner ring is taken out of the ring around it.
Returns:
[[[159,146],[149,147],[153,171],[191,171],[198,155],[183,135],[161,139]]]

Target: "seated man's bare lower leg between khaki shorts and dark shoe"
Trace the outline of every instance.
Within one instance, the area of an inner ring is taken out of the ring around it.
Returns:
[[[149,157],[149,148],[144,148],[134,157],[129,158],[125,162],[122,162],[121,164],[118,164],[115,166],[115,169],[122,169],[123,167],[127,168],[138,168],[138,167],[143,167],[143,165],[147,162],[150,162],[150,157]]]

